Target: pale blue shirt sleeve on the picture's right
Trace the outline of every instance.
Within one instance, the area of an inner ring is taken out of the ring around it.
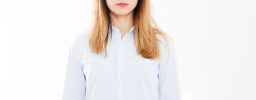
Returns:
[[[159,63],[159,100],[181,100],[180,85],[177,72],[176,51],[173,39],[168,35],[168,48],[164,46],[161,61]],[[165,43],[166,44],[166,43]]]

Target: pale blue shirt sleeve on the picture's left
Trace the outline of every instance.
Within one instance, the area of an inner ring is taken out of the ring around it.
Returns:
[[[64,92],[62,100],[84,100],[85,99],[85,75],[82,71],[81,54],[78,53],[73,43],[69,48]]]

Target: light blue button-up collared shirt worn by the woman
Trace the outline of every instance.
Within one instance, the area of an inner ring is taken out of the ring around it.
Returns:
[[[112,26],[112,25],[111,25]],[[161,59],[143,58],[136,52],[134,26],[121,38],[112,26],[107,57],[89,48],[85,31],[70,45],[63,100],[180,100],[175,43],[168,35],[171,54],[156,34]],[[109,28],[110,31],[110,28]],[[109,32],[110,33],[110,32]]]

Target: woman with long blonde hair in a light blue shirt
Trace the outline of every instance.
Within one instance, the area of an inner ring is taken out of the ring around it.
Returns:
[[[94,0],[93,24],[69,49],[65,100],[179,100],[173,39],[149,0]]]

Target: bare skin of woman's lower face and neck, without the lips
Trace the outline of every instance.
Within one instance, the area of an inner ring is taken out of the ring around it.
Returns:
[[[119,2],[125,2],[128,5],[120,7],[116,5]],[[134,25],[133,14],[138,0],[106,0],[106,3],[109,8],[109,15],[113,18],[111,23],[119,29],[122,38]]]

